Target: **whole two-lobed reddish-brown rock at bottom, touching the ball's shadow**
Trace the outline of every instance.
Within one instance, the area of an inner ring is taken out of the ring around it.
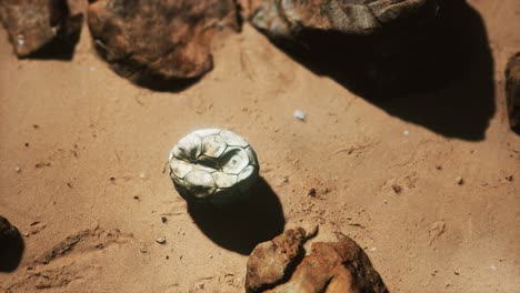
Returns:
[[[294,241],[293,234],[294,231],[289,230],[276,238],[273,243],[267,242],[257,246],[248,261],[247,292],[388,292],[367,254],[351,239],[342,236],[337,243],[313,243],[311,254],[296,263],[300,259],[294,255],[301,256],[303,252],[302,241],[300,238],[296,238]],[[281,245],[280,249],[274,244],[276,241],[283,241],[282,243],[290,245],[287,249]]]

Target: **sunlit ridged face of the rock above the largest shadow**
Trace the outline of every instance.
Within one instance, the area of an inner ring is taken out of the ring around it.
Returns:
[[[441,0],[264,0],[253,12],[251,21],[276,38],[298,39],[306,31],[367,36],[388,27],[427,21],[437,14],[440,2]],[[256,3],[252,2],[251,6],[254,7]]]

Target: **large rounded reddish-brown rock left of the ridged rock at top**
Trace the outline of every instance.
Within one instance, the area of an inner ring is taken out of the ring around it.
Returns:
[[[201,77],[213,65],[216,30],[238,29],[232,0],[99,0],[88,23],[101,57],[143,84]]]

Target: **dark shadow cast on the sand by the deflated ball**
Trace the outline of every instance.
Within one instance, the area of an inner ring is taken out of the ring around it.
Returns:
[[[277,194],[259,178],[248,201],[226,208],[188,205],[191,218],[216,244],[248,255],[258,243],[283,232],[286,220]]]

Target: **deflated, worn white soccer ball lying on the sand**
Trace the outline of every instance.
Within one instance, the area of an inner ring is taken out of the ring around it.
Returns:
[[[182,138],[170,152],[170,178],[194,204],[222,206],[243,200],[258,179],[257,154],[238,134],[203,129]]]

